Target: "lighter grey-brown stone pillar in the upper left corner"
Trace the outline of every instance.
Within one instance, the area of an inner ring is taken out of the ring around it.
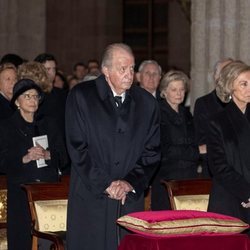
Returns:
[[[0,57],[31,60],[45,50],[46,0],[0,1]]]

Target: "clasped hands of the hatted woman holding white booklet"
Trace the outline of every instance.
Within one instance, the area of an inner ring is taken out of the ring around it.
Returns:
[[[50,160],[50,151],[45,150],[39,144],[28,149],[28,153],[23,156],[23,163],[29,163],[30,161],[36,161],[39,159]]]

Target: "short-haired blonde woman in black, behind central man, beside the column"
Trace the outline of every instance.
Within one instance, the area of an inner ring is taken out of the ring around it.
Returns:
[[[185,97],[188,77],[172,70],[160,83],[162,159],[152,185],[152,209],[170,209],[161,179],[192,179],[197,177],[198,146],[194,140],[193,117],[181,104]]]

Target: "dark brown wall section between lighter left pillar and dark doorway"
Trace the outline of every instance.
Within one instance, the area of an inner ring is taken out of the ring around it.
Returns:
[[[107,44],[122,41],[121,0],[47,2],[47,51],[71,73],[76,62],[101,60]]]

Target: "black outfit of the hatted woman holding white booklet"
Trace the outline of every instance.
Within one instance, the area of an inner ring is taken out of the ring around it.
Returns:
[[[22,163],[22,157],[33,146],[32,137],[47,135],[51,160],[47,167],[37,168],[36,161]],[[58,168],[66,164],[65,146],[54,122],[40,118],[26,122],[16,111],[0,123],[0,170],[7,175],[8,249],[31,249],[31,220],[25,192],[20,184],[58,180]]]

